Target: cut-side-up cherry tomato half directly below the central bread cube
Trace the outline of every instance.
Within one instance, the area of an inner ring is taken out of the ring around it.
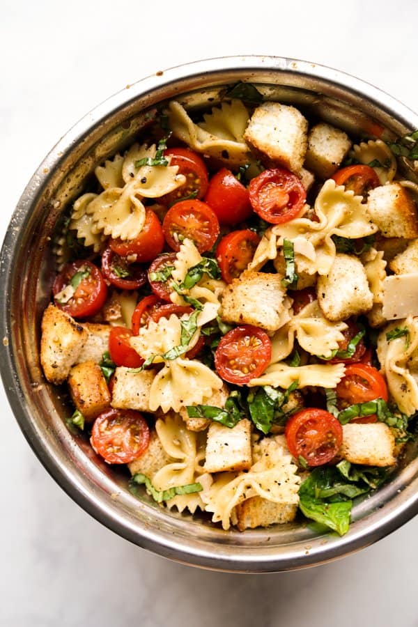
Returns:
[[[272,356],[268,334],[253,325],[241,325],[226,333],[215,352],[215,368],[222,379],[244,385],[267,368]]]

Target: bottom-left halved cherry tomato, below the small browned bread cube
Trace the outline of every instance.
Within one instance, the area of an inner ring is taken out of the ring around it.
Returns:
[[[150,430],[133,410],[109,409],[94,421],[91,446],[109,464],[128,464],[148,449]]]

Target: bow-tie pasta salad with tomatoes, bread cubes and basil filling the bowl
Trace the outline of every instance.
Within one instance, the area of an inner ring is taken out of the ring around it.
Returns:
[[[194,118],[169,102],[96,167],[54,242],[40,358],[132,492],[225,530],[347,532],[418,410],[403,149],[245,84]]]

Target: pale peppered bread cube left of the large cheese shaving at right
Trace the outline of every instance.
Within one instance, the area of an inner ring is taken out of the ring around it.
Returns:
[[[351,255],[337,254],[330,272],[318,277],[316,290],[320,309],[332,322],[364,314],[373,307],[364,265]]]

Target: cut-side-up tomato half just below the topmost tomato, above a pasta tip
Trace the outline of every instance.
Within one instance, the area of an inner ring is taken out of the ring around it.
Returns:
[[[180,201],[164,217],[162,230],[173,250],[180,250],[185,238],[193,240],[200,253],[212,248],[219,235],[219,222],[209,205],[199,200]]]

